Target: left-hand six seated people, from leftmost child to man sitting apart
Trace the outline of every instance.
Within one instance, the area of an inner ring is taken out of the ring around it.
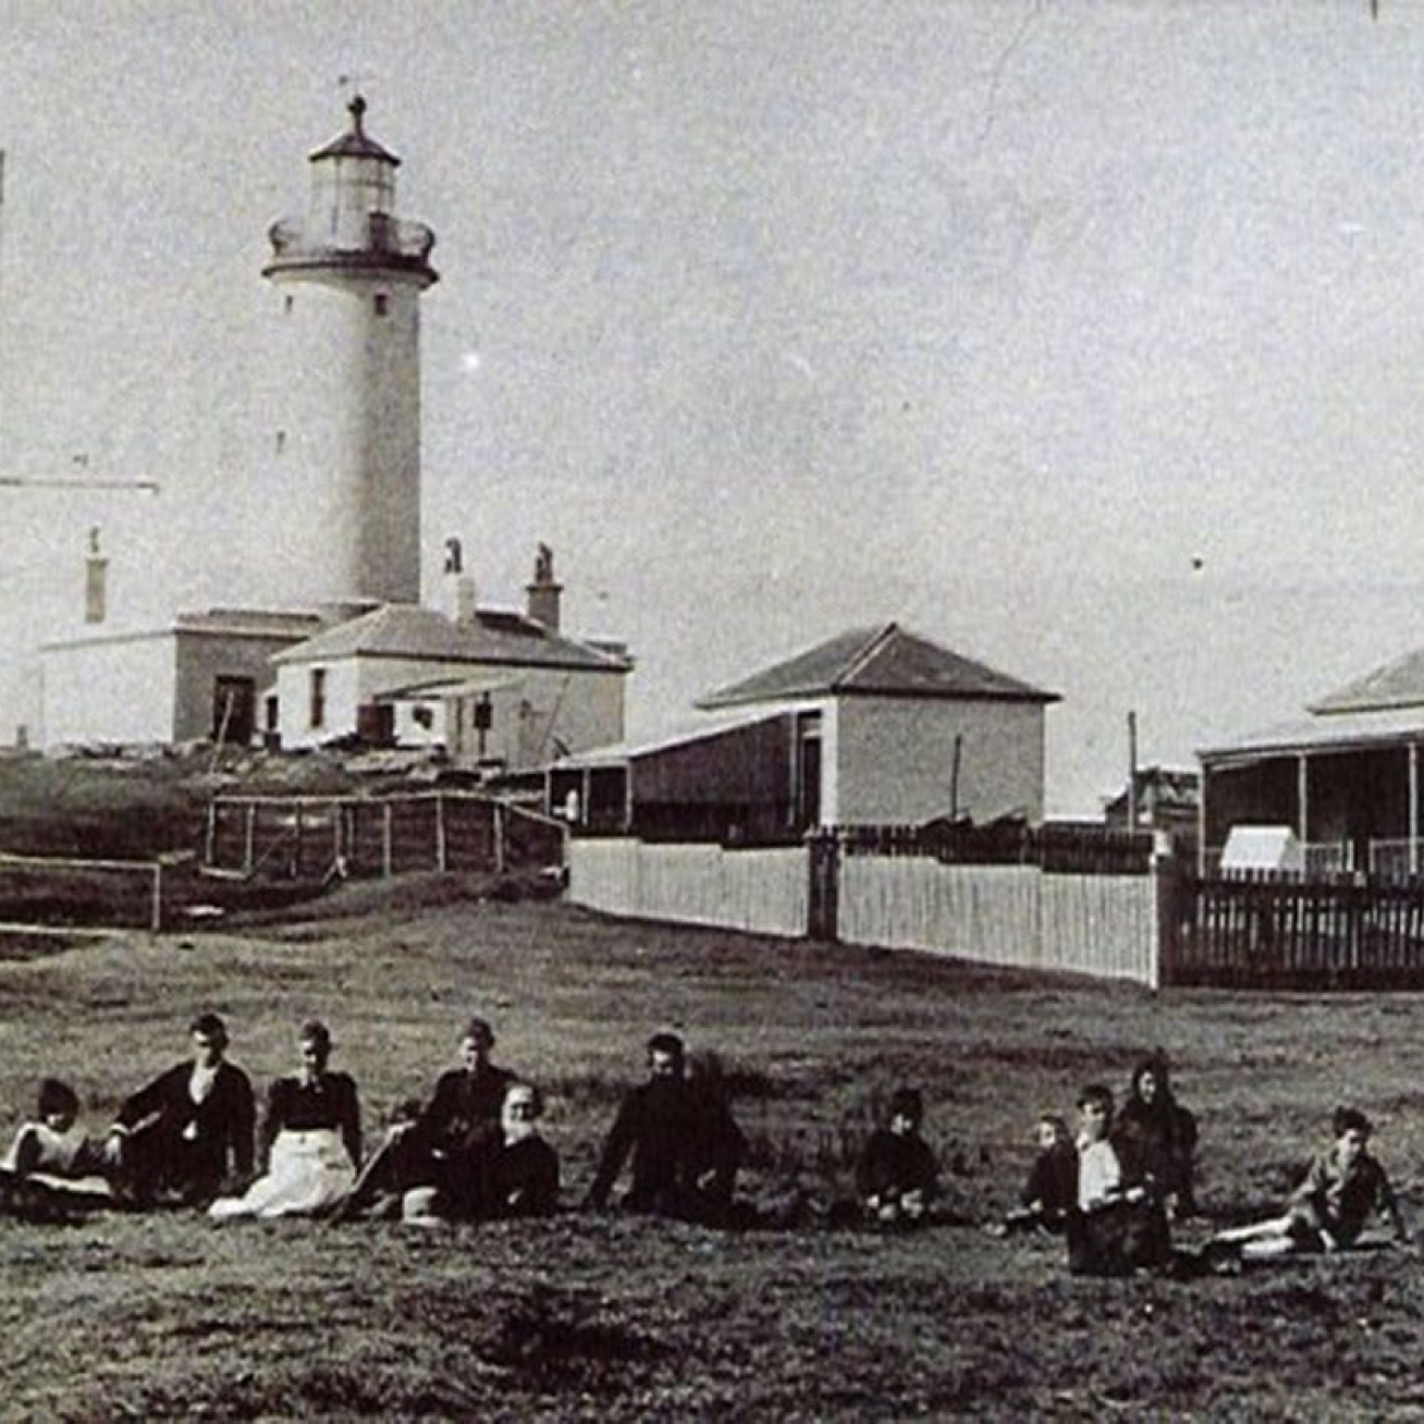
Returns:
[[[538,1126],[543,1096],[490,1061],[494,1034],[483,1018],[461,1032],[460,1067],[440,1075],[427,1104],[397,1109],[365,1159],[356,1084],[329,1067],[325,1024],[302,1025],[300,1068],[272,1084],[261,1131],[248,1075],[228,1061],[222,1020],[202,1014],[189,1034],[192,1055],[127,1098],[103,1139],[81,1126],[73,1088],[46,1079],[34,1121],[0,1163],[0,1200],[34,1215],[187,1205],[215,1220],[377,1216],[416,1225],[557,1208],[558,1156]],[[726,1104],[688,1077],[682,1040],[655,1034],[648,1079],[618,1108],[587,1205],[607,1205],[631,1158],[624,1206],[719,1222],[743,1151]]]

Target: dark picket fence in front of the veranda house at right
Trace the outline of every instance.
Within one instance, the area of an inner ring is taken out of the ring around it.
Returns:
[[[1424,988],[1424,880],[1163,877],[1162,983]]]

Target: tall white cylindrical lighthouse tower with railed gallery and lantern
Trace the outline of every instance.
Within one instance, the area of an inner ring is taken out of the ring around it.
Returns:
[[[305,218],[272,225],[259,422],[263,597],[420,600],[420,293],[434,234],[396,216],[400,159],[350,128],[310,155]]]

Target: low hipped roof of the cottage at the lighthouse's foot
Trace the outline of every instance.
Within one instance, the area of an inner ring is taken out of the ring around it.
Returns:
[[[490,662],[520,668],[571,668],[628,672],[632,662],[574,638],[550,632],[524,614],[481,608],[456,622],[433,608],[383,604],[285,648],[272,661],[336,662],[342,658],[414,658],[429,662]]]

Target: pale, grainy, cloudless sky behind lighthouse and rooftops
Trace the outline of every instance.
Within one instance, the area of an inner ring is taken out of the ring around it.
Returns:
[[[1054,691],[1048,807],[1424,644],[1424,4],[0,0],[0,735],[100,525],[244,602],[266,228],[437,234],[424,544],[627,638],[634,735],[852,627]],[[343,84],[343,77],[346,83]],[[251,600],[246,600],[251,601]],[[20,689],[20,691],[17,691]]]

